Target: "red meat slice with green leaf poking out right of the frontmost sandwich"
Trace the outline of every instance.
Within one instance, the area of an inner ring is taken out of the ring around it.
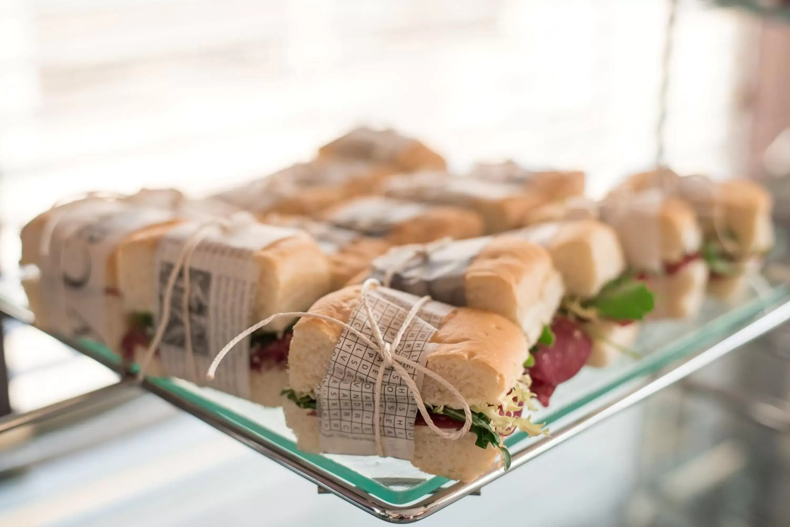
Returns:
[[[548,406],[551,394],[561,382],[573,378],[592,353],[592,343],[604,338],[592,333],[587,322],[613,321],[632,324],[653,310],[653,293],[630,274],[611,280],[590,299],[566,296],[551,322],[551,328],[524,363],[532,378],[532,391],[541,405]]]

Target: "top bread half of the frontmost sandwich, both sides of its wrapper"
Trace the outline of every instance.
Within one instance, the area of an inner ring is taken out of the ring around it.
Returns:
[[[329,293],[310,307],[348,322],[360,302],[361,286]],[[343,328],[316,318],[301,318],[294,326],[288,354],[290,386],[297,393],[314,392],[324,378],[326,365]],[[469,405],[502,401],[523,371],[529,348],[521,329],[498,314],[457,307],[439,324],[431,342],[437,344],[427,359],[438,373],[461,392]],[[430,377],[421,390],[428,405],[457,406],[457,401]]]

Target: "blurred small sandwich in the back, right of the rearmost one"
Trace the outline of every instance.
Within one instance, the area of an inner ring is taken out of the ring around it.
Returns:
[[[585,193],[582,171],[528,170],[514,161],[478,163],[468,177],[490,183],[519,185],[529,192],[542,194],[547,201],[562,201]]]

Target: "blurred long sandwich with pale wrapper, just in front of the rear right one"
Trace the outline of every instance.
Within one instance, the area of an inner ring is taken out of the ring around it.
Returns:
[[[520,185],[461,178],[445,172],[423,171],[388,179],[383,192],[391,198],[437,205],[454,205],[479,213],[488,234],[523,226],[525,213],[546,198]]]

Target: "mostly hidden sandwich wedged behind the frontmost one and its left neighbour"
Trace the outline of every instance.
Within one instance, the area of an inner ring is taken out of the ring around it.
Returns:
[[[362,235],[351,229],[310,220],[305,216],[268,214],[263,222],[280,227],[299,228],[307,232],[329,258],[332,269],[332,290],[342,288],[377,256],[389,249],[380,238]]]

